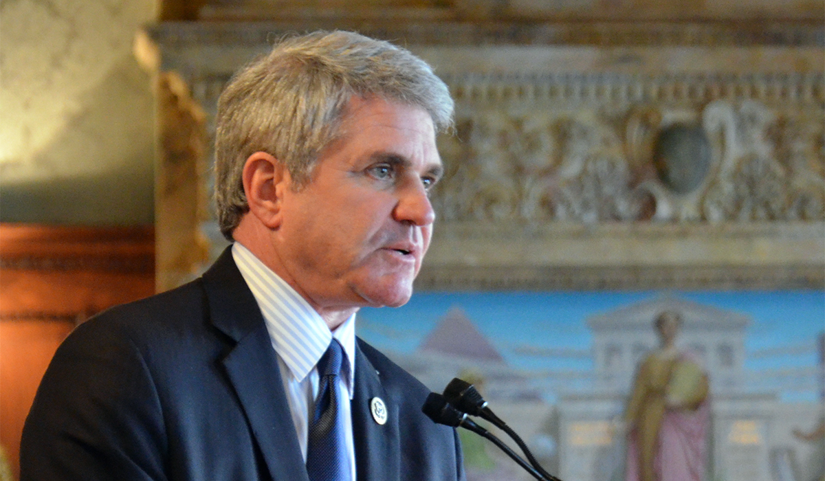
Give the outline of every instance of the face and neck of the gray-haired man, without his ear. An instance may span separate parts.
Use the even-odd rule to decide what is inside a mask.
[[[399,306],[430,244],[435,130],[415,106],[354,97],[309,184],[286,189],[275,231],[285,280],[316,309]]]

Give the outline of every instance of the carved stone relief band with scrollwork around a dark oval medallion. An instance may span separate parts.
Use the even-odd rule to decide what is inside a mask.
[[[813,85],[597,80],[457,87],[456,135],[441,139],[453,167],[434,197],[441,219],[825,219]]]

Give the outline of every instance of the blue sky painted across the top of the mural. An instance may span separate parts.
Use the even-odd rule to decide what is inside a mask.
[[[653,291],[418,293],[402,308],[361,309],[358,331],[376,347],[410,353],[450,308],[458,307],[511,365],[526,370],[590,370],[592,361],[587,350],[592,337],[585,319],[662,294]],[[823,291],[668,294],[751,318],[745,339],[747,370],[812,366],[818,362],[815,340],[825,331]],[[525,356],[520,354],[522,346],[565,350],[567,355]]]

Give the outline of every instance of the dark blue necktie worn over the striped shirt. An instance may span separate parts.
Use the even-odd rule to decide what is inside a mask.
[[[336,339],[318,361],[318,398],[309,420],[307,473],[310,481],[349,479],[344,421],[338,403],[344,400],[338,387],[343,351]]]

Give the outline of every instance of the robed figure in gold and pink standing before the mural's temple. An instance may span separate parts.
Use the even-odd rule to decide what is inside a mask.
[[[661,347],[639,365],[625,411],[625,481],[701,481],[708,376],[695,355],[676,348],[680,314],[665,311],[654,324]]]

